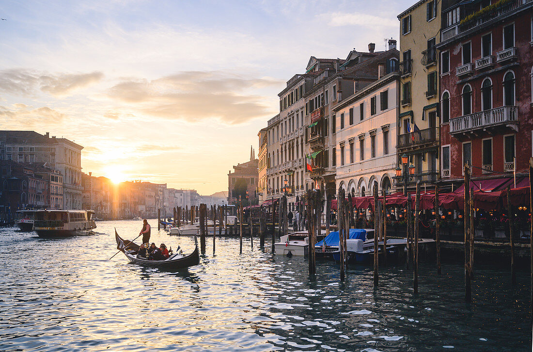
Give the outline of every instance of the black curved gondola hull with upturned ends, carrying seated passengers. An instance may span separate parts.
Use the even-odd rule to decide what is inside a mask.
[[[117,249],[122,251],[124,255],[130,259],[131,263],[147,266],[151,268],[162,268],[162,269],[182,269],[188,268],[190,266],[195,266],[200,264],[200,255],[198,254],[198,241],[195,236],[195,250],[189,255],[181,255],[175,253],[171,257],[165,260],[146,260],[137,258],[137,251],[139,250],[139,245],[120,238],[115,230],[115,239],[117,240]]]

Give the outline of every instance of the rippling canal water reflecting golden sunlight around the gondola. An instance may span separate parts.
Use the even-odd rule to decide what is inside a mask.
[[[151,220],[152,229],[156,225]],[[505,266],[475,267],[464,304],[461,263],[421,263],[419,294],[403,265],[352,266],[344,283],[319,261],[272,257],[259,240],[212,239],[199,266],[170,273],[128,264],[114,227],[133,239],[142,223],[99,222],[96,234],[40,239],[0,228],[1,351],[531,351],[529,274],[511,289]],[[156,227],[157,228],[157,227]],[[193,240],[152,230],[185,252]],[[270,242],[269,242],[270,243]]]

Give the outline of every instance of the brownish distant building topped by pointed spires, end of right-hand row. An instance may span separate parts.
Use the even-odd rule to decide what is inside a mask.
[[[259,178],[259,159],[255,159],[253,148],[250,149],[250,161],[233,166],[228,172],[228,204],[238,204],[239,195],[244,204],[257,204],[257,179]],[[246,200],[248,192],[248,200]]]

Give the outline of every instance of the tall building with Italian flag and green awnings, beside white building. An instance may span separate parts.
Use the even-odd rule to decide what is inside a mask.
[[[354,113],[356,109],[337,114],[333,107],[379,79],[379,69],[382,70],[381,77],[397,70],[396,41],[391,39],[387,44],[389,50],[376,52],[375,44],[370,43],[368,52],[352,50],[345,60],[314,57],[309,60],[306,69],[314,73],[314,77],[312,86],[304,94],[304,150],[311,163],[310,170],[305,173],[306,189],[320,188],[327,195],[336,194],[336,168],[341,161],[337,133],[357,124],[360,119]],[[370,104],[364,109],[370,116]]]

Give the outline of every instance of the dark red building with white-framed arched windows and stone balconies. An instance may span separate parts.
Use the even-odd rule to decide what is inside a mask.
[[[448,2],[442,14],[441,177],[527,175],[533,144],[533,1]],[[518,144],[518,145],[517,145]]]

